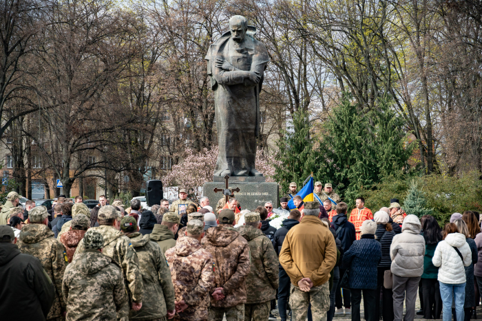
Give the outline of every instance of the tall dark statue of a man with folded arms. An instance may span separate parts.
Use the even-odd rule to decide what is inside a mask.
[[[207,73],[214,91],[219,156],[215,176],[262,176],[255,169],[260,135],[260,91],[269,62],[266,47],[247,34],[244,16],[229,19],[226,32],[209,47]]]

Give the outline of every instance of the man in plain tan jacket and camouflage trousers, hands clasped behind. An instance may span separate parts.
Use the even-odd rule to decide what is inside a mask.
[[[295,321],[306,319],[310,303],[313,320],[326,320],[330,309],[328,280],[337,248],[318,215],[318,202],[304,203],[304,217],[286,234],[280,252],[280,263],[291,279],[289,303]]]

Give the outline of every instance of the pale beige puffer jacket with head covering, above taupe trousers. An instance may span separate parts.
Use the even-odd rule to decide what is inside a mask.
[[[407,215],[401,225],[401,234],[393,237],[390,245],[392,274],[402,278],[417,278],[423,274],[425,239],[420,235],[420,220]]]

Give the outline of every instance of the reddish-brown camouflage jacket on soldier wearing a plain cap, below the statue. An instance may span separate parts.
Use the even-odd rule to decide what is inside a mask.
[[[240,234],[229,225],[221,224],[208,228],[202,239],[205,248],[214,260],[215,288],[222,287],[225,296],[216,301],[211,296],[213,307],[235,307],[246,303],[246,280],[251,263],[249,245]]]

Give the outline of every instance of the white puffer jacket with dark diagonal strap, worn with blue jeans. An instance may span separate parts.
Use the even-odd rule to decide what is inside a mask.
[[[457,247],[463,256],[463,262],[455,251]],[[472,252],[465,241],[465,235],[461,233],[450,233],[446,239],[441,241],[435,249],[432,263],[439,268],[437,280],[446,284],[465,283],[465,269],[472,263]]]

